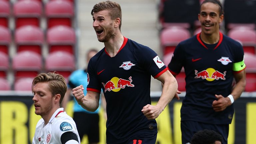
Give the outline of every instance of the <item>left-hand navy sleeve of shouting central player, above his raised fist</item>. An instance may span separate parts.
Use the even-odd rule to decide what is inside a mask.
[[[100,93],[101,92],[101,83],[97,78],[97,72],[94,68],[95,64],[92,60],[92,58],[90,59],[89,63],[88,63],[88,68],[87,68],[87,91],[95,91]]]

